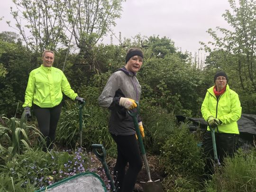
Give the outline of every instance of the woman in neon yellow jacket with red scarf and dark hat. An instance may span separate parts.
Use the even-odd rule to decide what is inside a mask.
[[[216,147],[219,162],[225,155],[233,156],[239,137],[237,121],[241,117],[241,104],[238,94],[228,85],[228,76],[219,71],[214,76],[215,85],[210,87],[201,106],[202,117],[208,121],[209,126],[216,127]],[[207,157],[206,173],[212,174],[213,148],[210,128],[203,138],[204,154]],[[210,158],[209,158],[210,157]]]

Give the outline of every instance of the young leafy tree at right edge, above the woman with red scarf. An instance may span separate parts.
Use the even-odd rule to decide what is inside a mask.
[[[232,10],[226,10],[223,17],[232,29],[217,27],[222,37],[209,29],[214,39],[210,44],[222,52],[223,67],[236,71],[240,89],[256,92],[256,0],[239,0],[239,4],[229,0],[229,4]]]

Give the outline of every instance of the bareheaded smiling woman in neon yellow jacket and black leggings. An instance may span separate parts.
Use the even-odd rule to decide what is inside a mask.
[[[72,100],[83,102],[83,99],[71,89],[64,73],[52,66],[54,52],[45,50],[42,57],[43,64],[29,74],[22,107],[25,108],[27,117],[30,117],[30,107],[34,105],[39,129],[46,137],[46,147],[51,149],[61,113],[62,92]],[[43,150],[46,151],[46,148]]]

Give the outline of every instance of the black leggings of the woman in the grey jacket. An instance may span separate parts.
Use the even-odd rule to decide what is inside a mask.
[[[137,175],[142,168],[142,159],[135,135],[115,136],[118,157],[114,168],[115,185],[118,192],[132,192],[137,180]],[[125,167],[129,168],[125,173]]]

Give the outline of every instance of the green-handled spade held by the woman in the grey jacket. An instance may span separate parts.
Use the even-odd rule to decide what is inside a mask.
[[[148,165],[147,158],[146,158],[146,151],[145,151],[143,141],[142,141],[142,137],[141,137],[141,134],[140,134],[140,130],[139,130],[139,127],[138,127],[137,116],[139,114],[139,103],[136,102],[136,104],[137,104],[137,108],[135,108],[133,110],[135,112],[131,112],[129,110],[127,110],[127,112],[132,117],[132,120],[133,120],[133,123],[134,123],[134,126],[135,126],[135,130],[136,130],[136,134],[137,134],[138,142],[139,142],[139,147],[140,147],[140,152],[142,154],[142,158],[143,158],[145,169],[146,169],[146,174],[147,174],[147,177],[148,177],[147,182],[140,182],[140,183],[142,185],[142,188],[143,188],[144,192],[164,192],[160,180],[158,179],[156,181],[152,181],[152,179],[151,179],[149,165]]]

